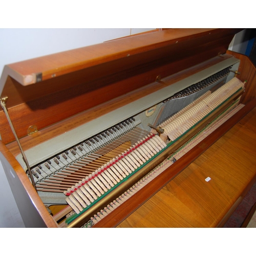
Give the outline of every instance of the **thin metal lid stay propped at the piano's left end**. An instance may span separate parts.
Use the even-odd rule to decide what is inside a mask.
[[[8,100],[8,97],[0,98],[0,104],[1,104],[1,106],[2,106],[2,108],[3,108],[3,110],[4,110],[4,112],[5,112],[5,115],[6,115],[6,117],[7,117],[7,120],[8,120],[8,122],[9,122],[9,125],[10,125],[11,130],[12,130],[12,133],[13,133],[13,135],[14,135],[14,137],[15,137],[17,143],[18,143],[19,150],[20,150],[20,152],[22,153],[23,160],[24,160],[24,162],[26,163],[26,166],[27,166],[27,168],[28,168],[28,172],[29,172],[29,175],[30,175],[31,182],[32,182],[32,184],[33,184],[33,186],[34,186],[34,188],[35,188],[35,190],[36,190],[34,178],[33,178],[33,175],[32,175],[32,173],[31,173],[31,169],[30,169],[30,166],[29,166],[29,163],[28,163],[28,159],[27,159],[27,157],[26,157],[26,155],[25,155],[25,153],[24,153],[24,151],[23,151],[22,145],[21,145],[20,142],[19,142],[18,136],[17,136],[17,134],[16,134],[16,132],[15,132],[15,129],[14,129],[13,124],[12,124],[12,121],[11,121],[11,118],[10,118],[10,116],[9,116],[9,114],[8,114],[8,110],[7,110],[7,108],[6,108],[6,101],[7,101],[7,100]],[[37,190],[36,190],[36,191],[37,191]]]

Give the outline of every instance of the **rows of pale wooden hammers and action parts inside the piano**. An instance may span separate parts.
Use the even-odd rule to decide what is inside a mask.
[[[74,210],[72,216],[67,220],[67,223],[69,224],[77,217],[83,215],[82,218],[90,219],[84,226],[92,226],[113,209],[118,207],[123,201],[134,195],[134,193],[146,185],[147,182],[150,182],[155,177],[155,174],[160,174],[163,169],[169,167],[176,161],[181,154],[181,150],[177,150],[174,154],[169,156],[160,167],[155,168],[153,172],[146,174],[142,179],[136,181],[137,183],[130,189],[125,189],[125,191],[120,190],[121,193],[119,197],[102,207],[102,204],[104,204],[102,199],[104,197],[110,196],[113,190],[115,191],[117,187],[120,187],[120,184],[132,177],[134,173],[139,172],[142,166],[150,162],[151,159],[163,151],[167,144],[175,143],[191,130],[193,126],[197,125],[210,113],[217,110],[232,95],[240,92],[243,87],[244,83],[237,78],[233,78],[221,88],[213,90],[212,93],[210,91],[206,92],[205,95],[200,96],[196,102],[193,102],[192,104],[190,103],[189,108],[185,108],[185,110],[176,113],[175,118],[173,116],[164,122],[165,126],[163,126],[163,129],[164,134],[167,136],[166,141],[160,139],[156,133],[147,134],[142,140],[132,143],[132,146],[128,147],[122,154],[113,156],[110,161],[100,166],[93,173],[76,183],[71,188],[67,189],[65,191],[65,195],[68,196],[66,201]],[[238,100],[236,100],[236,103],[237,102]],[[231,105],[233,108],[234,104],[235,103]],[[183,154],[199,143],[205,136],[207,136],[207,134],[216,129],[218,125],[221,125],[225,120],[220,120],[220,118],[224,116],[224,113],[229,113],[227,118],[236,113],[234,111],[230,112],[230,109],[232,109],[231,106],[219,115],[218,118],[215,118],[214,121],[211,121],[206,125],[203,129],[203,133],[200,132],[194,136],[193,139],[190,140],[189,146],[187,143],[184,144],[186,145],[186,150],[184,151],[184,146],[182,146]],[[115,195],[116,194],[114,194],[114,197]],[[97,207],[101,206],[101,210],[97,211],[97,214],[95,213],[93,216],[87,215],[87,211],[97,204],[99,205]]]

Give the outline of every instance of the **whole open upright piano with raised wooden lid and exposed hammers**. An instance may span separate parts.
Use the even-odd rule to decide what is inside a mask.
[[[6,65],[0,160],[24,226],[117,226],[249,113],[255,67],[227,50],[239,31],[164,29]]]

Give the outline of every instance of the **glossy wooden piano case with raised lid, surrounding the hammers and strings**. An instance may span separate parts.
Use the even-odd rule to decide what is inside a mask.
[[[256,105],[255,67],[246,56],[227,50],[234,34],[240,30],[164,29],[6,65],[0,80],[2,172],[5,170],[25,226],[117,226],[252,110]],[[67,196],[58,191],[48,199],[47,191],[39,191],[38,187],[38,191],[35,190],[29,177],[31,175],[35,186],[38,186],[38,176],[42,176],[38,166],[46,168],[49,163],[52,168],[66,153],[77,159],[77,155],[83,154],[85,142],[94,144],[103,135],[112,136],[108,131],[126,129],[125,124],[129,126],[133,123],[152,136],[162,137],[159,124],[179,112],[180,106],[183,108],[191,103],[186,103],[184,95],[190,90],[197,90],[195,88],[202,81],[226,71],[228,73],[222,83],[236,77],[244,84],[242,90],[233,95],[229,103],[224,103],[220,110],[204,118],[203,123],[194,125],[185,135],[185,140],[180,140],[171,150],[163,150],[160,155],[154,156],[154,161],[144,164],[146,172],[138,179],[143,179],[164,161],[172,162],[172,166],[163,170],[156,179],[109,214],[104,210],[106,206],[113,205],[117,193],[125,194],[126,190],[116,192],[108,200],[103,197],[104,203],[95,207],[86,218],[86,210],[78,214],[70,206],[53,217],[49,214],[48,206],[66,203],[63,198]],[[175,97],[179,98],[179,108],[172,110],[172,114],[164,114],[167,112],[167,107],[164,107]],[[233,102],[244,106],[204,139],[203,146],[188,151],[178,161],[172,157],[180,146],[230,108]],[[15,140],[6,113],[24,155],[20,153],[19,142]],[[151,127],[147,126],[148,123],[152,124]],[[27,158],[29,167],[24,158]],[[14,179],[18,185],[15,185]],[[129,180],[125,189],[138,182]],[[70,188],[66,195],[72,194],[72,189],[77,188]],[[57,222],[70,211],[71,217],[59,225]],[[104,218],[94,223],[97,213],[102,211]]]

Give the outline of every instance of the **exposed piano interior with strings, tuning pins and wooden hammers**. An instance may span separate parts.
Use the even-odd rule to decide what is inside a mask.
[[[144,173],[143,166],[243,88],[237,78],[225,83],[230,68],[159,103],[153,120],[164,130],[161,138],[143,123],[142,113],[32,167],[43,202],[68,204],[71,207],[68,226],[76,218],[85,220],[84,227],[94,225],[172,161],[168,157],[161,167],[154,166],[150,173]],[[173,159],[178,157],[175,154]],[[131,178],[134,179],[132,186],[128,182]]]

